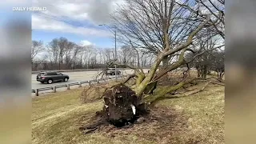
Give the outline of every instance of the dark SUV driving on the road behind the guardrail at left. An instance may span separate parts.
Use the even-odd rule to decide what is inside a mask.
[[[52,83],[52,82],[67,82],[70,77],[66,74],[58,73],[58,72],[40,72],[37,75],[37,81],[44,83]]]

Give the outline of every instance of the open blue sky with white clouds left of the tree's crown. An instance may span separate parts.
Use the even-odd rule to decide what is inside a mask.
[[[99,24],[110,24],[110,14],[123,0],[33,0],[46,11],[32,14],[32,38],[47,43],[65,37],[72,42],[113,47],[113,34]]]

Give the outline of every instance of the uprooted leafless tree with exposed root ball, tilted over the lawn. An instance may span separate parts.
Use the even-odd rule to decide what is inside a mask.
[[[124,5],[118,7],[112,17],[118,40],[134,50],[155,54],[156,59],[147,74],[139,66],[110,62],[110,66],[126,66],[133,69],[134,74],[126,78],[125,82],[134,78],[135,83],[133,89],[118,84],[105,90],[102,95],[105,106],[98,113],[104,122],[115,126],[132,122],[135,116],[138,118],[138,115],[146,112],[148,104],[194,81],[194,78],[183,78],[173,86],[158,87],[157,83],[163,76],[193,62],[207,51],[222,47],[216,46],[206,50],[196,46],[200,42],[198,37],[206,31],[214,30],[214,26],[223,17],[222,13],[217,12],[219,18],[212,18],[211,14],[202,14],[198,10],[198,15],[188,8],[189,5],[197,6],[190,1],[180,4],[174,0],[126,0]],[[193,56],[186,61],[185,55],[188,51],[192,52]],[[160,70],[157,72],[158,68]],[[157,90],[153,94],[155,89]],[[92,127],[95,128],[87,128]]]

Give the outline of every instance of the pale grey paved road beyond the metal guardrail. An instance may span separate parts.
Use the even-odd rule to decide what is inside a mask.
[[[67,74],[70,76],[70,80],[68,82],[56,82],[52,84],[42,84],[41,82],[37,82],[36,77],[37,74],[32,74],[32,90],[39,89],[48,86],[57,86],[61,84],[73,83],[73,82],[81,82],[81,81],[89,81],[95,79],[96,75],[102,72],[101,70],[95,71],[76,71],[76,72],[62,72],[62,74]],[[122,74],[133,74],[134,70],[121,70]],[[146,72],[146,69],[145,69]]]

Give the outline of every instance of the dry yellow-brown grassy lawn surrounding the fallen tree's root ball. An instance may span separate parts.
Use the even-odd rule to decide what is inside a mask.
[[[81,93],[82,88],[32,99],[33,143],[224,143],[224,86],[210,84],[198,94],[161,100],[154,117],[142,124],[106,126],[86,135],[78,127],[102,109],[102,101],[82,104]]]

